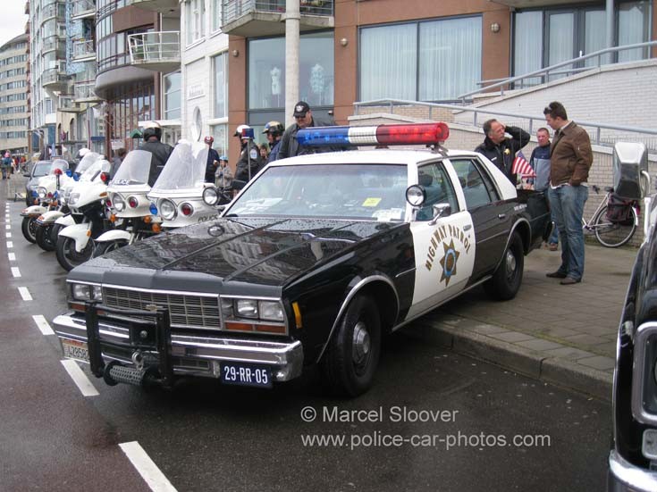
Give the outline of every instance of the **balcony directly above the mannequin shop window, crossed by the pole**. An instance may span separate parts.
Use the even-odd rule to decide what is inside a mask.
[[[333,28],[334,0],[300,0],[299,29]],[[250,38],[285,34],[285,0],[223,0],[222,31]]]

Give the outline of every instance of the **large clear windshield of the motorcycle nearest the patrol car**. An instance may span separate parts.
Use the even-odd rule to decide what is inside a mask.
[[[203,188],[208,147],[202,142],[181,140],[164,165],[153,189]]]

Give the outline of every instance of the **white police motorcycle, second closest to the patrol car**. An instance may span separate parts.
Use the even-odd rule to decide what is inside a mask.
[[[147,194],[148,171],[153,154],[147,150],[129,152],[107,187],[106,203],[111,208],[110,222],[121,220],[121,226],[106,230],[95,241],[94,256],[100,256],[121,246],[160,231],[153,223]]]

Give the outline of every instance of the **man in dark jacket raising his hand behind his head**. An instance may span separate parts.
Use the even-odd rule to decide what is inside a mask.
[[[516,185],[515,176],[511,173],[516,153],[529,143],[529,134],[518,127],[507,127],[497,120],[484,122],[484,143],[477,146],[475,152],[484,154]],[[508,133],[511,138],[506,138]]]

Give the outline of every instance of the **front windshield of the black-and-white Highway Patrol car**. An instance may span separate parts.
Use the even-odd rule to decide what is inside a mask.
[[[403,221],[408,175],[399,164],[270,167],[226,216]]]

